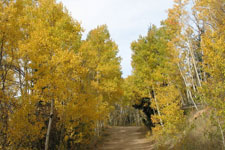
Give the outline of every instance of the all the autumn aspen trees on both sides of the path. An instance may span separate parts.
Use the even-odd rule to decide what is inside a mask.
[[[156,141],[181,141],[192,108],[225,148],[224,0],[174,0],[131,43],[126,79],[107,26],[82,32],[55,0],[0,1],[0,149],[83,149],[107,124],[141,125],[143,98]]]

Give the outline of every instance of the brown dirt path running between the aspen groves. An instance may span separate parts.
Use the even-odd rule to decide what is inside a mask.
[[[152,150],[143,127],[110,127],[96,150]]]

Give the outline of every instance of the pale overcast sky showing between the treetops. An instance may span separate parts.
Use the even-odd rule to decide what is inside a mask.
[[[131,74],[132,41],[146,35],[150,24],[160,25],[167,17],[173,0],[58,0],[72,17],[81,22],[87,33],[98,25],[107,24],[111,38],[119,46],[123,77]]]

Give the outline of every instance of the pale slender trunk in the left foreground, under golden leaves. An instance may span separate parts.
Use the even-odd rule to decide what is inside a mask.
[[[45,140],[45,150],[48,150],[48,146],[49,146],[49,136],[50,136],[51,127],[52,127],[54,102],[55,102],[54,99],[52,99],[49,122],[48,122],[48,129],[47,129],[46,140]]]

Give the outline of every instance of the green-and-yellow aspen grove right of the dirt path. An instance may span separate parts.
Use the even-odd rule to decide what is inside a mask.
[[[161,27],[150,26],[147,36],[131,44],[131,82],[157,110],[156,137],[180,135],[188,124],[183,110],[193,107],[208,111],[208,132],[225,148],[224,46],[224,0],[174,0]]]

